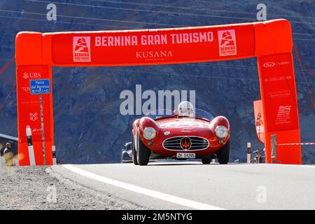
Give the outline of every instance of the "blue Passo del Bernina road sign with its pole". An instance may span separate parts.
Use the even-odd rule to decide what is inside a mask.
[[[41,105],[41,141],[43,144],[43,165],[46,165],[45,131],[43,122],[43,94],[50,94],[50,80],[49,79],[29,80],[29,92],[31,94],[39,94],[39,102]]]

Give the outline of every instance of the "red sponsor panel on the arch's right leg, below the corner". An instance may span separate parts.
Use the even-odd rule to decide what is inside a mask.
[[[268,132],[298,128],[291,61],[290,54],[268,55],[260,59]]]

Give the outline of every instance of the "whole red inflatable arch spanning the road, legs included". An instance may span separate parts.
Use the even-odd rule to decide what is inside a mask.
[[[293,40],[287,20],[178,29],[20,32],[15,44],[20,165],[29,165],[27,125],[33,133],[36,165],[43,165],[39,96],[29,93],[29,80],[49,78],[52,85],[52,66],[134,66],[257,57],[267,162],[271,162],[272,134],[278,143],[300,142]],[[46,164],[52,165],[52,93],[43,94],[43,118]],[[278,146],[277,159],[283,164],[301,164],[300,146]]]

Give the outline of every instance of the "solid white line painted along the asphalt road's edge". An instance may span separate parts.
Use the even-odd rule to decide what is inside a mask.
[[[113,179],[109,179],[105,176],[99,176],[97,174],[93,174],[91,172],[87,172],[83,169],[80,169],[78,167],[73,167],[73,165],[63,165],[64,168],[66,169],[69,169],[71,172],[75,172],[76,174],[80,174],[81,176],[85,176],[87,178],[90,178],[90,179],[94,179],[96,181],[100,181],[102,183],[107,183],[107,184],[110,184],[112,186],[116,186],[118,188],[123,188],[125,190],[131,190],[135,193],[139,193],[139,194],[142,194],[142,195],[147,195],[147,196],[150,196],[150,197],[155,197],[159,200],[164,200],[164,201],[167,201],[167,202],[172,202],[174,204],[180,204],[184,207],[190,207],[192,209],[200,209],[200,210],[225,210],[221,207],[215,207],[215,206],[212,206],[210,204],[204,204],[204,203],[200,203],[200,202],[195,202],[195,201],[192,201],[192,200],[187,200],[187,199],[184,199],[184,198],[181,198],[181,197],[176,197],[176,196],[173,196],[173,195],[168,195],[168,194],[165,194],[165,193],[160,193],[158,191],[155,191],[155,190],[149,190],[149,189],[146,189],[146,188],[141,188],[139,186],[134,186],[130,183],[124,183],[124,182],[121,182],[121,181],[116,181],[116,180],[113,180]]]

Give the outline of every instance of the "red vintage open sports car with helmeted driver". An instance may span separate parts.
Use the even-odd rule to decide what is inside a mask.
[[[187,109],[190,112],[187,113]],[[201,158],[203,164],[209,164],[214,154],[220,164],[229,162],[230,124],[227,118],[214,118],[206,111],[194,110],[192,105],[185,109],[179,106],[179,110],[169,116],[155,114],[132,124],[134,165],[148,165],[150,159],[160,158]]]

